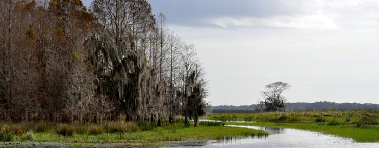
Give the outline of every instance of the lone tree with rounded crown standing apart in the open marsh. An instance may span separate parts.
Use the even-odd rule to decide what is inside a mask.
[[[274,82],[266,85],[266,91],[262,91],[261,95],[265,98],[264,101],[260,101],[261,111],[285,111],[286,99],[281,95],[284,90],[291,87],[288,83]]]

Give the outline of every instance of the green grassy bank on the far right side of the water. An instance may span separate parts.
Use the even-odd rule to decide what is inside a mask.
[[[352,138],[356,142],[379,142],[379,114],[368,111],[291,111],[258,114],[213,114],[212,120],[255,121],[226,124],[293,128]]]

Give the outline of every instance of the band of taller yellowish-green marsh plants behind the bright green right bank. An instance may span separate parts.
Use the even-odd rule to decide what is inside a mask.
[[[369,125],[379,125],[379,113],[368,110],[323,110],[323,111],[286,111],[264,112],[254,114],[210,114],[209,120],[219,121],[255,121],[255,122],[329,122],[335,120],[340,123],[356,124],[361,122]]]

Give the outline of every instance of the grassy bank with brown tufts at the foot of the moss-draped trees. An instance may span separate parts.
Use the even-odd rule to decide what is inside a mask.
[[[11,142],[53,142],[64,144],[64,146],[97,146],[98,144],[164,146],[169,145],[170,141],[223,140],[267,135],[266,132],[260,130],[222,125],[203,123],[198,127],[192,127],[183,123],[175,123],[155,127],[148,124],[125,122],[108,122],[106,124],[3,123],[0,133],[11,133],[12,137],[10,140],[8,139]],[[5,141],[5,139],[3,138],[1,141]]]

